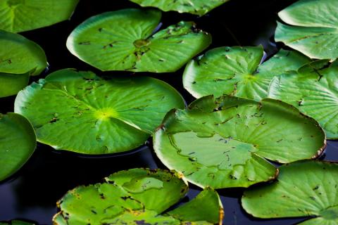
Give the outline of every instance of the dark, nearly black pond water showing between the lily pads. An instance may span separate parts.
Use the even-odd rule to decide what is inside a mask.
[[[293,2],[291,0],[232,0],[202,18],[194,15],[163,13],[163,27],[180,20],[193,20],[199,28],[213,35],[213,44],[209,49],[218,46],[262,44],[269,57],[277,51],[276,44],[271,41],[277,12]],[[71,56],[65,47],[65,41],[68,34],[89,16],[128,7],[138,6],[127,0],[81,0],[71,20],[32,32],[24,32],[23,35],[36,41],[46,51],[50,64],[49,72],[62,68],[77,68],[93,70],[102,75],[102,72]],[[189,103],[194,98],[182,87],[183,70],[161,75],[149,73],[142,73],[142,75],[157,77],[175,86]],[[127,74],[112,72],[104,75],[121,73]],[[34,77],[34,80],[44,76]],[[14,99],[15,97],[0,99],[0,113],[13,111]],[[338,143],[328,141],[323,159],[338,160],[337,151]],[[152,153],[151,144],[123,156],[104,158],[85,158],[73,153],[57,153],[49,146],[38,144],[35,154],[20,172],[0,183],[0,221],[27,219],[39,224],[51,224],[51,218],[56,213],[56,201],[69,189],[80,184],[100,182],[104,176],[113,172],[134,167],[164,168]],[[242,210],[239,204],[243,190],[231,188],[219,191],[225,209],[225,224],[282,225],[296,224],[303,220],[253,219]],[[194,197],[197,193],[199,188],[192,186],[188,197],[184,200]]]

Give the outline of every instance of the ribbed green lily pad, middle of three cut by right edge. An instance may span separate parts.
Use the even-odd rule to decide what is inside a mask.
[[[319,60],[275,77],[270,84],[269,97],[277,98],[317,120],[328,139],[338,139],[338,63],[327,67]]]

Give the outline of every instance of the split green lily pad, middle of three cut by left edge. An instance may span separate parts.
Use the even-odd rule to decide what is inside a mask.
[[[0,30],[0,98],[17,94],[47,66],[44,50],[20,34]]]

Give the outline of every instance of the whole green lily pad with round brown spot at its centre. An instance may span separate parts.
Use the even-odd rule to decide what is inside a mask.
[[[160,21],[161,11],[154,9],[102,13],[76,27],[67,47],[104,71],[175,72],[211,44],[211,35],[190,22],[154,34]]]

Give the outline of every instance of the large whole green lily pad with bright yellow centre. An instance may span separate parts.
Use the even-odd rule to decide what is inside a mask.
[[[184,101],[158,79],[104,80],[75,70],[54,72],[15,99],[15,112],[32,122],[39,142],[84,154],[141,146],[172,108],[184,108]]]

